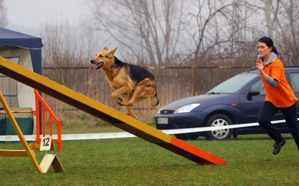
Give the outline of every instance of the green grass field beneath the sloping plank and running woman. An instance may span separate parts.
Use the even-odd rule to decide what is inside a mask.
[[[272,155],[266,135],[238,140],[187,141],[226,161],[226,165],[197,165],[139,138],[63,141],[57,154],[65,171],[36,174],[28,158],[0,157],[0,186],[93,185],[299,185],[299,152],[290,135],[282,152]],[[0,149],[22,149],[0,143]],[[40,163],[45,152],[37,153]],[[47,152],[51,154],[53,152]]]

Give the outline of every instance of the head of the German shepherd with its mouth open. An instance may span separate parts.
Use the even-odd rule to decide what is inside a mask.
[[[104,65],[111,65],[114,60],[114,53],[117,48],[114,48],[112,50],[108,50],[107,47],[105,47],[102,51],[99,51],[90,62],[92,64],[96,64],[94,66],[94,69],[102,68]]]

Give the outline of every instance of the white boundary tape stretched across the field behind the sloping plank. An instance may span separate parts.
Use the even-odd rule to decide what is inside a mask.
[[[299,118],[298,118],[299,120]],[[284,123],[286,120],[272,121],[271,123]],[[199,128],[187,128],[187,129],[171,129],[162,130],[166,134],[183,134],[183,133],[194,133],[203,131],[215,131],[242,127],[258,126],[258,123],[247,123],[238,125],[227,125],[227,126],[216,126],[216,127],[199,127]],[[35,135],[24,135],[26,141],[35,141]],[[42,137],[42,136],[41,136]],[[57,135],[52,136],[53,139],[57,139]],[[92,133],[92,134],[64,134],[61,135],[61,140],[95,140],[95,139],[112,139],[112,138],[133,138],[135,135],[128,132],[117,132],[117,133]],[[18,136],[0,136],[0,141],[19,141]]]

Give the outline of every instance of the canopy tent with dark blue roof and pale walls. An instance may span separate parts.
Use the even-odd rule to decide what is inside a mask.
[[[43,46],[41,38],[27,35],[24,33],[8,30],[0,27],[0,56],[5,57],[15,63],[28,68],[38,74],[41,74],[41,47]],[[0,74],[0,90],[9,107],[13,110],[35,110],[35,97],[33,88],[15,81],[3,74]],[[0,104],[0,107],[2,105]],[[30,113],[32,116],[32,113]],[[17,117],[27,118],[29,113],[18,114]],[[30,118],[32,118],[30,116]],[[32,118],[33,119],[33,118]],[[28,122],[24,123],[23,129],[27,129],[28,134],[32,134],[32,119],[31,127],[28,127]],[[0,118],[2,121],[3,119]],[[4,119],[5,120],[5,119]],[[19,119],[21,120],[21,119]],[[30,121],[29,120],[29,121]],[[5,120],[6,122],[6,120]],[[7,123],[7,122],[6,122]],[[0,133],[9,134],[7,124],[0,123]],[[35,123],[35,121],[34,121]],[[3,127],[4,126],[4,127]],[[6,129],[3,129],[5,128]],[[33,125],[35,126],[35,124]],[[20,126],[22,129],[22,126]],[[22,129],[22,131],[23,131]],[[11,128],[11,130],[13,130]],[[33,130],[34,131],[34,130]],[[13,131],[14,132],[14,131]],[[24,133],[24,131],[23,131]],[[1,135],[1,134],[0,134]]]

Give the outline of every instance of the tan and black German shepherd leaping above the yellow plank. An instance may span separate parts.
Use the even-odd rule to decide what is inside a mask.
[[[115,89],[111,97],[121,106],[127,107],[127,115],[137,119],[132,108],[137,101],[149,99],[149,106],[159,104],[156,91],[156,80],[145,68],[122,62],[114,53],[117,48],[99,51],[90,62],[94,69],[102,68],[110,86]]]

